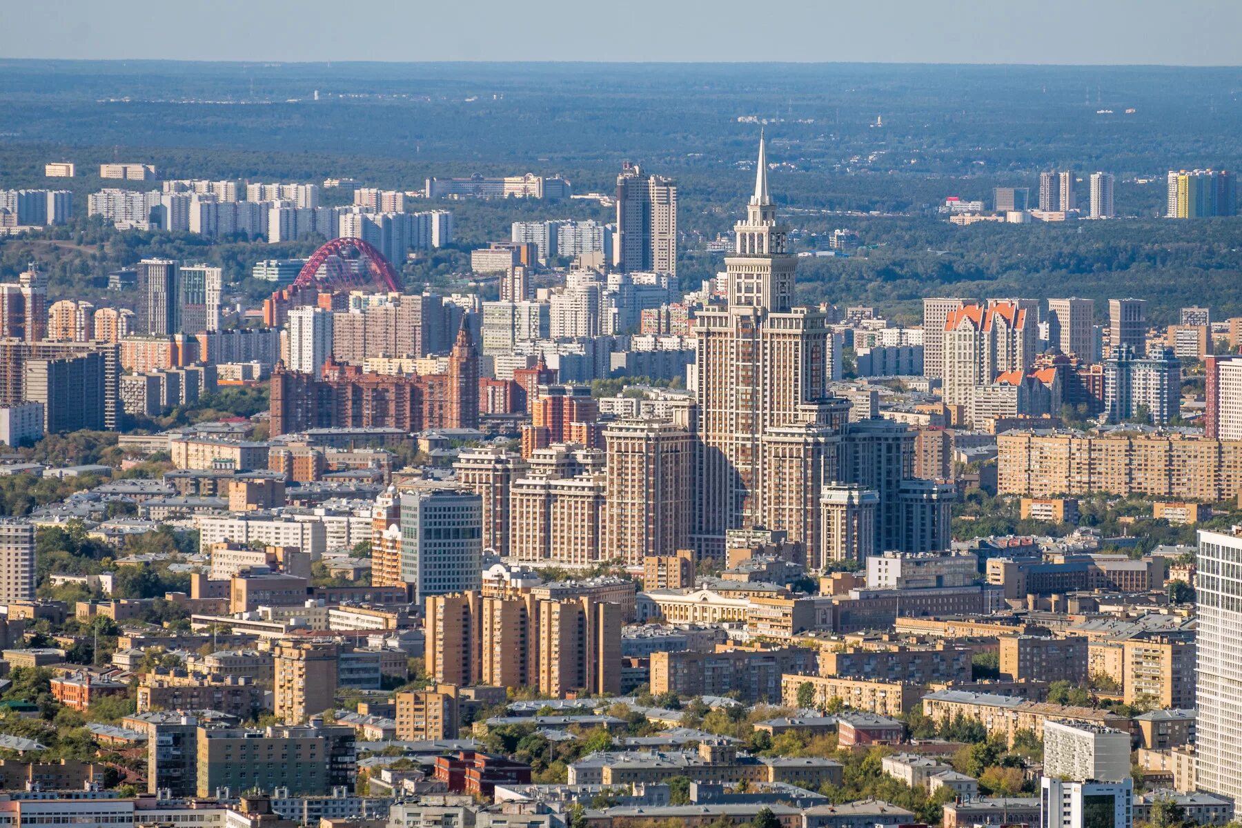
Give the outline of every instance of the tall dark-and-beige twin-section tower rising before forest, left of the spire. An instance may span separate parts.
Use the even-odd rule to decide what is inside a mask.
[[[766,170],[764,170],[766,175]],[[620,271],[677,274],[677,184],[626,164],[617,176],[612,264]]]

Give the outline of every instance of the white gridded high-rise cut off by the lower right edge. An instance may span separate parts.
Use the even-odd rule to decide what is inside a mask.
[[[1200,530],[1195,559],[1199,790],[1242,799],[1242,535]]]

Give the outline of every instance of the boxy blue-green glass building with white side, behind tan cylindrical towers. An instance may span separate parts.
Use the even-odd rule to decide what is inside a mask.
[[[419,483],[401,492],[400,575],[419,603],[482,582],[483,502],[473,490]]]

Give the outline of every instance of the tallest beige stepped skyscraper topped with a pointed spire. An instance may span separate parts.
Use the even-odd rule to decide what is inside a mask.
[[[734,233],[735,252],[724,261],[728,304],[694,319],[699,492],[693,541],[700,554],[723,555],[725,531],[764,524],[765,513],[780,511],[764,497],[768,432],[827,425],[809,422],[821,420],[809,403],[827,396],[830,330],[818,310],[794,307],[796,258],[771,201],[761,135],[755,191]],[[835,453],[827,454],[810,462],[835,466]]]

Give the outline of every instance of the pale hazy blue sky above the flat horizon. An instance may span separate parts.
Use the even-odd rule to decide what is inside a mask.
[[[1240,31],[1242,0],[0,0],[0,57],[1237,66]]]

